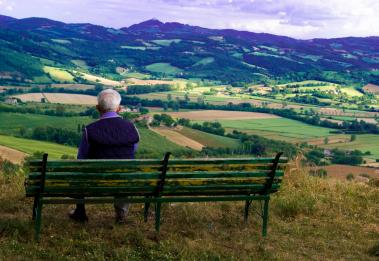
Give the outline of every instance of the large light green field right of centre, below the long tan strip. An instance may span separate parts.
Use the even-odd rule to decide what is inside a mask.
[[[239,130],[254,130],[276,132],[279,136],[284,135],[295,138],[312,138],[329,135],[330,129],[305,124],[286,118],[277,119],[253,119],[253,120],[221,120],[225,128]]]

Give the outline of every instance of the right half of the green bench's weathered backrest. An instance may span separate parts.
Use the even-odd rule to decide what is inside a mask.
[[[170,160],[162,195],[246,195],[280,187],[287,159]]]

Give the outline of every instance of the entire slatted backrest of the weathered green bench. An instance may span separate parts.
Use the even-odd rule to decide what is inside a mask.
[[[265,194],[279,189],[286,159],[54,160],[30,162],[27,196]]]

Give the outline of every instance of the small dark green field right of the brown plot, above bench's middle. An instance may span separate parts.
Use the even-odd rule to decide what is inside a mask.
[[[182,130],[178,131],[184,136],[195,140],[207,147],[213,148],[237,148],[240,143],[235,139],[231,139],[228,137],[222,137],[210,133],[206,133],[199,130],[194,130],[190,128],[184,127]]]

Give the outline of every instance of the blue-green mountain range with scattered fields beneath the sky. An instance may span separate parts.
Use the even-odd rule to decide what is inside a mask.
[[[114,29],[0,16],[0,48],[3,83],[56,80],[44,66],[112,79],[141,72],[233,85],[302,79],[379,82],[379,37],[298,40],[156,19]]]

